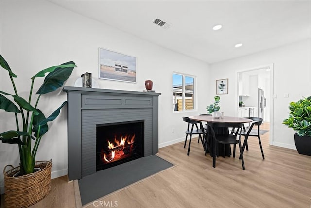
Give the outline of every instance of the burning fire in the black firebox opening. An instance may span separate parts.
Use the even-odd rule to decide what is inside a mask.
[[[96,125],[96,171],[144,156],[144,120]]]

